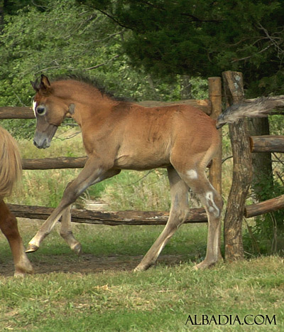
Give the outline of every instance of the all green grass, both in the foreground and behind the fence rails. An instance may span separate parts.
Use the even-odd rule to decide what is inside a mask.
[[[75,144],[58,139],[44,151],[26,141],[20,145],[25,158],[84,155],[78,136]],[[55,206],[75,176],[73,170],[23,173],[23,188],[9,203]],[[121,172],[91,188],[87,197],[103,199],[113,210],[168,210],[165,170],[147,174]],[[228,188],[229,174],[224,171]],[[20,220],[25,244],[40,223]],[[0,331],[283,331],[284,265],[280,257],[220,263],[195,271],[195,262],[206,252],[207,225],[182,225],[158,264],[134,274],[129,268],[104,267],[104,262],[116,257],[118,265],[120,261],[125,267],[133,264],[133,259],[145,255],[163,226],[75,225],[74,229],[84,255],[97,257],[101,269],[80,271],[82,257],[70,252],[53,231],[40,250],[29,256],[38,273],[14,279],[10,277],[11,252],[0,233]],[[168,263],[163,259],[166,255],[177,259]],[[6,266],[10,269],[4,274]],[[202,315],[238,315],[241,321],[246,315],[275,315],[277,326],[185,325],[189,315],[197,315],[199,322]]]

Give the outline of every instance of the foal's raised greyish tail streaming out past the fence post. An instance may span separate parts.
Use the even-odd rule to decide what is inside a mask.
[[[284,95],[259,97],[256,100],[246,100],[246,102],[231,105],[219,115],[216,127],[219,129],[224,124],[235,122],[242,117],[267,117],[271,109],[275,107],[284,107]]]

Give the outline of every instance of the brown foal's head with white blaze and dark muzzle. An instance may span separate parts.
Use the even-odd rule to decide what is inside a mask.
[[[39,84],[31,82],[31,85],[36,92],[33,112],[37,120],[33,144],[39,149],[45,149],[50,146],[50,141],[66,114],[74,111],[74,105],[68,105],[67,100],[56,95],[55,87],[45,75],[41,75]]]

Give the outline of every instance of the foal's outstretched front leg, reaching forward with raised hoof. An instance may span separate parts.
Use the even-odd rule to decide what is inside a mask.
[[[102,166],[94,158],[87,159],[87,162],[80,172],[79,176],[75,178],[70,185],[67,186],[63,193],[62,199],[57,208],[53,211],[50,217],[45,220],[45,223],[40,227],[40,230],[36,233],[33,239],[28,243],[26,252],[34,252],[40,247],[40,242],[48,236],[53,230],[53,227],[60,219],[63,210],[70,204],[74,203],[75,200],[93,183],[96,182],[97,178],[106,173],[107,169]]]

